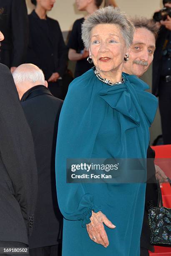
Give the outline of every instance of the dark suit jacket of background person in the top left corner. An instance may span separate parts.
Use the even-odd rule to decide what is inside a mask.
[[[25,63],[28,46],[28,15],[25,0],[0,0],[2,41],[0,62],[10,67]]]

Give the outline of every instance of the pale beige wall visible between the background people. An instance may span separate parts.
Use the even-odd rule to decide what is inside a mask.
[[[26,0],[28,6],[28,13],[30,13],[34,5],[30,0]],[[162,0],[116,0],[116,3],[121,10],[125,11],[128,15],[145,16],[152,18],[153,13],[162,8]],[[69,31],[73,26],[73,22],[85,15],[75,7],[75,0],[56,0],[53,9],[48,13],[48,16],[58,20],[61,30]],[[147,82],[151,87],[152,75],[151,68],[143,75],[142,79]],[[151,126],[151,143],[161,134],[161,121],[159,111]]]

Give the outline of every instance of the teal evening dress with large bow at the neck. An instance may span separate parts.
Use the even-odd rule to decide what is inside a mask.
[[[56,187],[64,217],[63,256],[139,256],[145,183],[66,183],[67,158],[146,158],[149,126],[157,99],[148,85],[123,73],[110,86],[90,69],[73,80],[60,113],[56,146]],[[105,230],[109,246],[87,233],[92,210],[116,228]]]

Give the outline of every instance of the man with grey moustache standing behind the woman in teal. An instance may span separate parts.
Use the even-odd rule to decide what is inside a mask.
[[[153,54],[156,49],[156,38],[158,27],[155,23],[147,18],[135,18],[133,20],[136,28],[133,36],[133,44],[131,46],[128,61],[123,65],[123,72],[141,77],[150,67],[153,61]],[[148,250],[154,251],[154,247],[150,242],[150,227],[148,223],[148,209],[152,204],[157,206],[158,188],[156,178],[159,182],[167,182],[167,177],[159,166],[154,166],[153,161],[155,153],[150,146],[147,150],[147,184],[146,184],[146,200],[143,218],[143,227],[141,232],[140,255],[149,256]],[[156,175],[155,175],[156,174]]]

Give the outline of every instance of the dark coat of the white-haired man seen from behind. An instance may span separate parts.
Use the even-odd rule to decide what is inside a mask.
[[[38,166],[38,200],[29,248],[56,245],[60,238],[63,217],[56,196],[55,147],[62,103],[43,85],[31,88],[21,99]]]

